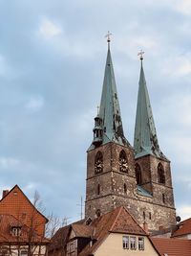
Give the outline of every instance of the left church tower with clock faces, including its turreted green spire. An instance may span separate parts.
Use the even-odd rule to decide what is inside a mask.
[[[126,205],[136,190],[134,151],[126,140],[120,115],[117,85],[108,52],[94,140],[88,150],[85,216],[96,217]]]

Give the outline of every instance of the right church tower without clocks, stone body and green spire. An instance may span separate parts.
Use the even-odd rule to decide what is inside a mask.
[[[143,71],[143,52],[140,52],[138,105],[134,137],[135,173],[143,219],[156,229],[176,223],[170,161],[159,149],[153,113]],[[151,202],[147,204],[146,201]],[[154,224],[152,224],[152,222]]]

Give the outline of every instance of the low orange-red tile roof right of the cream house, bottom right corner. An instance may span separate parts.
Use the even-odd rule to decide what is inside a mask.
[[[190,256],[191,240],[174,238],[151,238],[161,256]]]

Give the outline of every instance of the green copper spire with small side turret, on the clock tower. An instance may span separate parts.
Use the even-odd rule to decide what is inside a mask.
[[[129,145],[124,137],[120,108],[117,96],[114,68],[110,52],[110,33],[108,33],[108,53],[105,65],[105,75],[102,87],[99,112],[96,116],[94,128],[94,146],[116,142],[120,145]],[[100,127],[102,130],[100,130]],[[91,147],[92,148],[92,147]]]

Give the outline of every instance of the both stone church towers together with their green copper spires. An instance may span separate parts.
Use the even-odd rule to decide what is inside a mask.
[[[134,147],[124,136],[108,36],[101,102],[88,149],[85,216],[125,206],[139,224],[159,230],[176,223],[170,161],[160,151],[142,54]]]

